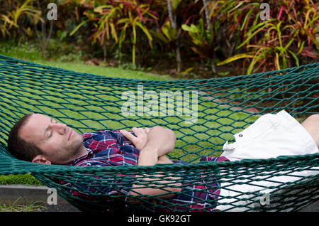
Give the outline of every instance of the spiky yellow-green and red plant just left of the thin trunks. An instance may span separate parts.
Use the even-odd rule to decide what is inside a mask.
[[[136,30],[138,28],[145,34],[150,48],[152,48],[152,35],[146,23],[157,20],[157,15],[150,10],[150,4],[140,4],[138,1],[127,0],[96,2],[94,5],[81,4],[86,7],[86,11],[84,11],[86,19],[79,23],[69,35],[72,36],[84,24],[92,23],[94,28],[89,39],[92,43],[98,42],[103,46],[104,58],[106,58],[106,45],[114,46],[117,44],[121,50],[123,42],[129,37],[132,45],[132,63],[135,64]]]

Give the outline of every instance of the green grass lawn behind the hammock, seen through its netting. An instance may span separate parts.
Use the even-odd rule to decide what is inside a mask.
[[[38,53],[35,51],[31,51],[28,53],[27,50],[23,52],[21,48],[30,48],[30,46],[24,46],[20,48],[0,48],[0,54],[11,56],[13,58],[21,58],[23,60],[28,60],[33,63],[38,63],[41,65],[48,65],[55,68],[63,68],[66,70],[72,70],[76,72],[84,72],[94,75],[103,75],[108,77],[125,77],[137,80],[172,80],[172,77],[169,75],[152,75],[147,72],[137,71],[137,70],[125,70],[122,68],[111,68],[111,67],[104,67],[104,66],[91,66],[91,65],[84,65],[81,62],[61,62],[58,60],[43,60],[40,58]],[[30,58],[30,59],[28,59]],[[88,81],[89,82],[89,81]],[[66,89],[61,90],[65,92]],[[105,88],[105,87],[104,87]],[[23,87],[24,90],[32,90],[35,92],[35,96],[39,99],[43,92],[34,89],[33,87]],[[70,90],[74,90],[74,87],[69,87]],[[6,88],[4,87],[4,90]],[[8,86],[8,90],[10,91],[10,87]],[[198,99],[198,120],[196,124],[192,124],[190,126],[186,126],[183,118],[181,117],[165,117],[164,119],[157,118],[149,120],[147,117],[130,117],[129,119],[125,119],[125,117],[121,116],[120,114],[113,114],[109,112],[105,112],[105,110],[99,107],[99,101],[105,98],[108,99],[109,102],[116,101],[116,97],[106,95],[99,95],[98,93],[89,93],[91,95],[92,100],[91,103],[93,109],[85,109],[85,107],[78,107],[77,104],[81,106],[83,104],[82,101],[78,100],[77,97],[82,95],[81,90],[73,91],[72,94],[68,93],[68,95],[72,95],[70,97],[72,102],[67,103],[67,107],[72,109],[72,111],[63,112],[63,114],[67,114],[68,117],[73,117],[74,119],[85,116],[88,120],[77,122],[77,120],[72,119],[65,119],[61,111],[56,110],[61,108],[62,105],[59,102],[59,90],[47,90],[47,93],[54,93],[57,102],[52,102],[54,98],[46,100],[43,99],[43,103],[47,102],[49,107],[43,108],[44,112],[56,117],[60,117],[62,122],[65,122],[68,125],[71,125],[74,129],[79,132],[84,132],[81,128],[96,128],[96,129],[130,129],[131,127],[140,127],[142,125],[146,125],[147,127],[152,127],[155,125],[163,125],[173,129],[177,134],[177,149],[175,149],[170,157],[172,159],[181,159],[183,161],[198,161],[200,156],[204,155],[211,155],[211,156],[218,156],[220,155],[220,151],[222,150],[223,143],[226,140],[233,139],[233,135],[237,131],[240,131],[240,127],[247,125],[247,122],[252,122],[256,119],[256,117],[249,117],[249,115],[239,112],[231,112],[228,109],[223,109],[223,107],[216,107],[216,104],[209,102],[202,97]],[[8,92],[8,96],[14,97],[14,93],[10,94]],[[94,105],[94,97],[97,98],[99,95],[99,99],[96,99],[96,106]],[[24,102],[21,103],[12,103],[10,102],[10,98],[8,98],[9,105],[13,107],[26,107],[27,109],[30,108],[32,103],[34,105],[39,104],[39,100],[32,100],[32,98],[28,99],[29,105],[25,104]],[[117,97],[118,98],[118,97]],[[16,104],[16,106],[15,106]],[[49,105],[50,104],[50,105]],[[11,106],[11,107],[12,107]],[[8,106],[10,107],[10,106]],[[111,111],[111,107],[109,108]],[[4,109],[6,111],[6,109]],[[8,110],[10,112],[10,110]],[[79,115],[81,111],[82,115]],[[103,112],[103,114],[99,114],[97,112]],[[208,114],[209,112],[209,114]],[[108,119],[109,117],[109,119]],[[249,118],[248,118],[249,117]],[[89,120],[89,119],[96,119],[96,120]],[[61,122],[60,120],[60,122]],[[89,125],[89,126],[88,126]],[[125,127],[124,127],[125,125]],[[182,127],[182,129],[180,129]],[[228,132],[225,132],[228,131]],[[26,185],[39,185],[41,184],[37,179],[33,178],[30,175],[18,175],[18,176],[0,176],[0,184],[26,184]]]

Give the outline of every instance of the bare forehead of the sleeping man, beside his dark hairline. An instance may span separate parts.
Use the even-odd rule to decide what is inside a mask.
[[[50,117],[43,114],[32,114],[28,122],[21,127],[20,136],[22,139],[27,139],[37,143],[43,139],[43,134],[50,123]]]

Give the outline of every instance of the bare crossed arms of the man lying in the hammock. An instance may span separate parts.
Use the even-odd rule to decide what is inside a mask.
[[[176,136],[171,129],[156,126],[151,129],[133,128],[132,131],[136,136],[125,130],[121,130],[121,134],[128,138],[135,147],[140,150],[138,166],[172,163],[172,161],[165,156],[169,154],[175,146]],[[150,182],[152,178],[143,178],[143,180]],[[130,190],[130,195],[160,195],[160,198],[171,198],[174,193],[181,190],[181,188],[179,188],[180,183],[177,182],[178,180],[179,178],[169,178],[169,182],[161,181],[163,184],[162,188],[147,188],[147,185],[134,184],[132,190]],[[174,186],[167,187],[167,184]]]

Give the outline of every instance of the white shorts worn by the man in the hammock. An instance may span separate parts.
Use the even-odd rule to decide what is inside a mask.
[[[224,152],[221,155],[230,161],[240,161],[245,158],[276,158],[277,156],[315,154],[319,152],[318,146],[308,134],[308,131],[285,111],[277,114],[264,114],[250,127],[234,136],[235,143],[228,144],[226,142],[223,146]],[[316,167],[313,171],[301,170],[290,173],[289,176],[273,176],[272,178],[267,176],[265,181],[262,181],[262,176],[255,176],[254,179],[258,180],[254,182],[252,182],[251,177],[249,180],[244,178],[231,181],[232,179],[230,179],[229,183],[221,183],[220,200],[218,200],[220,205],[216,209],[247,210],[249,208],[249,200],[252,200],[252,195],[247,195],[247,193],[256,193],[256,191],[269,193],[269,190],[267,190],[269,186],[278,186],[282,183],[296,181],[300,179],[300,176],[310,176],[318,173],[318,167]],[[244,184],[233,185],[234,182]],[[248,185],[245,182],[250,183]],[[230,197],[223,198],[225,196]],[[245,198],[247,198],[246,201]],[[234,208],[237,205],[247,205],[247,207]]]

